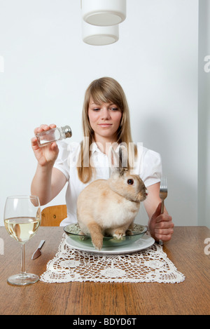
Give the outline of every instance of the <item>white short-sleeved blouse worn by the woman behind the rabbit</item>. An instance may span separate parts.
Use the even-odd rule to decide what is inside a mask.
[[[60,223],[60,226],[66,226],[67,224],[77,222],[76,203],[80,192],[90,184],[92,180],[107,180],[109,178],[110,168],[108,156],[99,150],[96,143],[93,143],[91,145],[92,155],[90,161],[92,161],[96,168],[96,175],[90,182],[84,184],[78,178],[76,166],[78,163],[78,155],[80,154],[80,143],[71,142],[67,144],[65,141],[59,141],[57,145],[59,147],[59,154],[54,167],[64,173],[68,182],[66,189],[67,217]],[[160,154],[151,149],[146,149],[141,143],[137,144],[137,148],[138,156],[134,163],[132,173],[139,175],[146,187],[160,182],[160,177],[162,175]]]

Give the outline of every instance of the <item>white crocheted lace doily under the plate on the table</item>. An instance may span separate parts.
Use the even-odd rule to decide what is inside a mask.
[[[97,255],[71,248],[63,234],[55,257],[47,264],[41,281],[62,283],[71,281],[94,282],[158,282],[180,283],[185,276],[154,243],[137,253],[125,255]]]

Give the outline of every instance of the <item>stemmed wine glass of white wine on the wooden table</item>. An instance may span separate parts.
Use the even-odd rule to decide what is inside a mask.
[[[25,271],[25,243],[31,239],[41,224],[41,208],[38,196],[8,196],[4,208],[4,224],[8,234],[20,242],[21,273],[8,278],[8,283],[18,286],[35,283],[39,277]]]

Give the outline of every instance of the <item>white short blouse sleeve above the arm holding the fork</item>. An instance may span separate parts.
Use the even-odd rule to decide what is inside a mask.
[[[141,154],[140,177],[146,187],[160,182],[162,176],[162,160],[159,153],[144,149]]]

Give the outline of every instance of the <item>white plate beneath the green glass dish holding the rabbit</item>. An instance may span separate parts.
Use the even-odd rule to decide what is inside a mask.
[[[105,254],[105,255],[118,255],[118,254],[127,254],[127,253],[134,253],[139,250],[143,250],[153,246],[155,240],[151,238],[151,236],[147,236],[146,234],[140,238],[139,240],[125,245],[125,246],[118,246],[118,247],[103,247],[102,250],[96,250],[94,246],[85,246],[83,243],[74,241],[70,238],[70,236],[66,237],[66,243],[74,249],[85,251],[87,253],[97,253],[97,254]]]

